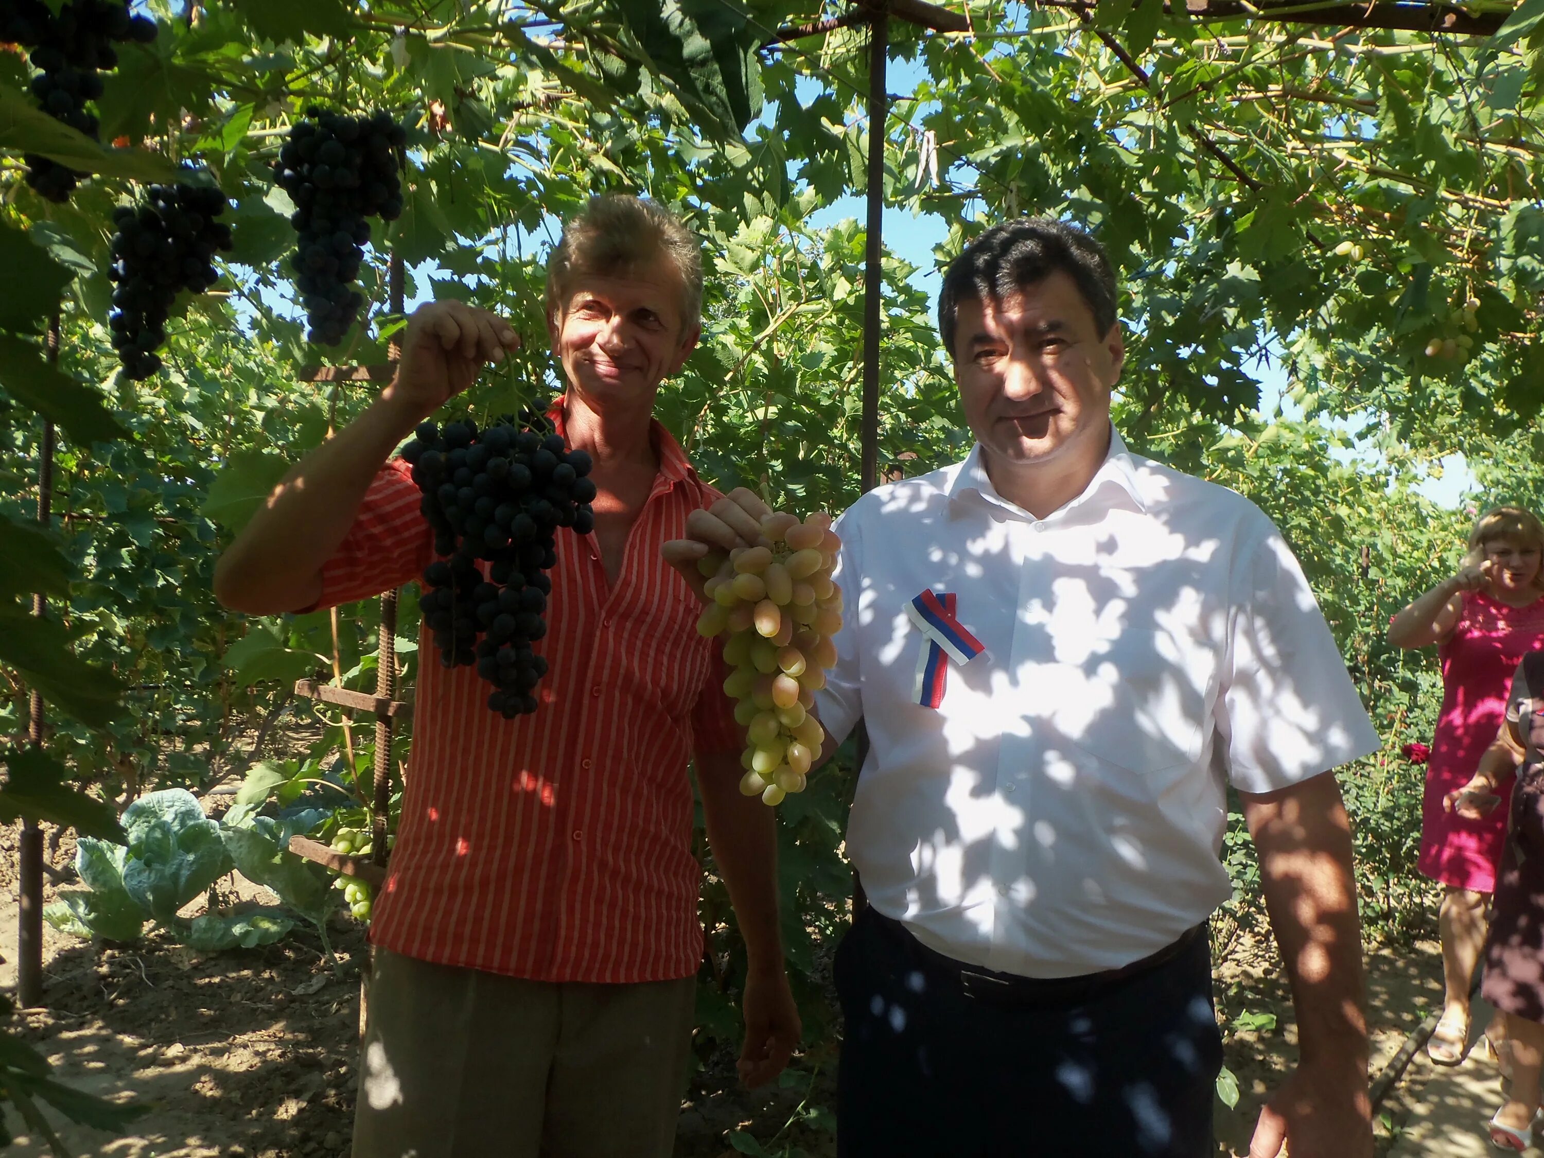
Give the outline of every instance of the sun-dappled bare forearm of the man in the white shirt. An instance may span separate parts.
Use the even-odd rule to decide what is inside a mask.
[[[1362,923],[1340,787],[1325,774],[1243,803],[1303,1062],[1345,1064],[1365,1079]]]

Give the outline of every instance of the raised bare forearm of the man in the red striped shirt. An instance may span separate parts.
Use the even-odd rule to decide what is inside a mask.
[[[215,596],[238,611],[278,615],[321,594],[321,567],[354,525],[371,480],[422,415],[392,388],[307,454],[252,516],[215,567]]]

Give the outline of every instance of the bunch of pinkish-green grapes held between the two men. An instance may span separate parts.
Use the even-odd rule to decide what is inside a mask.
[[[710,551],[698,564],[712,602],[696,630],[726,636],[724,662],[733,670],[724,692],[746,727],[740,791],[767,804],[803,792],[820,760],[824,732],[811,709],[837,662],[841,588],[831,570],[840,547],[829,514],[800,522],[777,513],[761,520],[757,545]]]

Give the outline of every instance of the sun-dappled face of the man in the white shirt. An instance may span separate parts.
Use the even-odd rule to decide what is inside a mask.
[[[988,459],[1034,466],[1102,446],[1126,349],[1101,335],[1078,283],[1055,270],[999,301],[959,303],[954,378]]]

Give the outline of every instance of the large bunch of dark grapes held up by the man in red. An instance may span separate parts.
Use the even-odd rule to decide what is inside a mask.
[[[494,686],[488,707],[505,720],[534,712],[547,659],[533,644],[547,635],[557,528],[594,530],[590,455],[527,415],[482,431],[469,418],[443,431],[429,422],[401,457],[423,491],[435,553],[449,556],[425,570],[418,601],[440,659],[476,664]]]

